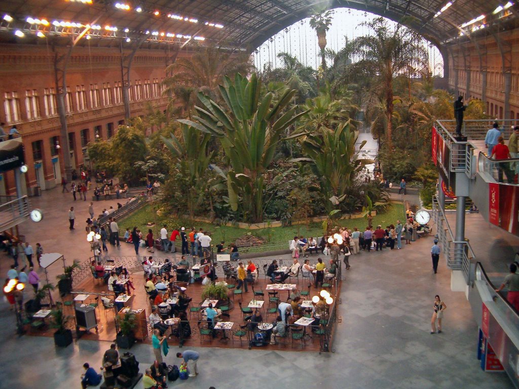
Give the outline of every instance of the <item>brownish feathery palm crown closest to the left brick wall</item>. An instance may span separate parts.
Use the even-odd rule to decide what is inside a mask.
[[[177,101],[176,94],[179,94],[183,107],[190,109],[198,92],[214,96],[224,76],[234,77],[240,72],[247,74],[251,68],[247,54],[230,53],[216,47],[200,48],[191,57],[177,58],[166,67],[167,74],[171,76],[163,81],[166,86],[163,94],[174,96],[171,107]]]

